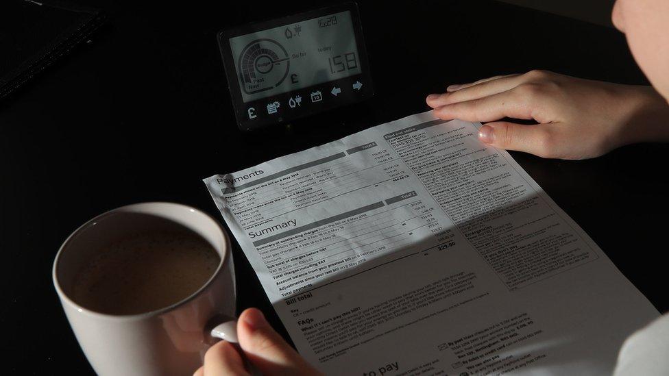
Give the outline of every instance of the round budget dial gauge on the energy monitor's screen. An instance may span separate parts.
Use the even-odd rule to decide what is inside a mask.
[[[239,75],[246,94],[271,90],[288,76],[288,52],[272,39],[250,42],[239,54]]]

